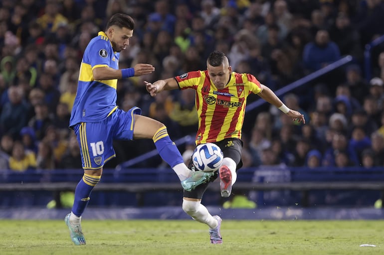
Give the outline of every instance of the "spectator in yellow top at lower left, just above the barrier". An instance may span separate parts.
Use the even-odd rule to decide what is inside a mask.
[[[23,172],[35,168],[36,156],[34,152],[25,151],[21,142],[14,142],[12,156],[9,158],[9,169]]]

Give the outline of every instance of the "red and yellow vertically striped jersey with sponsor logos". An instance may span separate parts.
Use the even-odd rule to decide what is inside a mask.
[[[210,81],[207,71],[189,72],[175,79],[180,89],[196,90],[196,145],[241,138],[247,97],[261,91],[260,83],[253,75],[232,72],[228,85],[219,90]]]

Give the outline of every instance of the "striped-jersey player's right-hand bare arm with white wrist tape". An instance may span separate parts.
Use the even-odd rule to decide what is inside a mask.
[[[298,120],[305,124],[304,115],[298,111],[289,109],[269,87],[261,84],[261,91],[257,95],[279,108],[282,112],[291,117],[293,121]]]

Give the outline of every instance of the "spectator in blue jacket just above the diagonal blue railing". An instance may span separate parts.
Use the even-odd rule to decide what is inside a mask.
[[[339,47],[330,41],[327,30],[319,30],[315,40],[304,46],[303,62],[310,72],[317,71],[339,59]]]

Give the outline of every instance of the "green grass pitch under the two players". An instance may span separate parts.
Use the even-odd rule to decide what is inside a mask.
[[[223,220],[211,245],[193,220],[83,220],[74,246],[63,220],[0,220],[0,255],[383,255],[384,221]],[[374,244],[377,247],[360,247]]]

